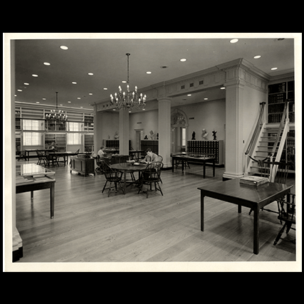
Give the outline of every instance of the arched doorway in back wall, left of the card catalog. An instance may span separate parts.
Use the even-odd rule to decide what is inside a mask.
[[[171,113],[171,152],[183,152],[187,148],[188,118],[179,109]]]

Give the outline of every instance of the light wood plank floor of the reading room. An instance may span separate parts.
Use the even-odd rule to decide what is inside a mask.
[[[221,180],[224,168],[191,164],[162,172],[162,192],[101,193],[105,177],[56,171],[55,217],[50,219],[49,191],[16,194],[17,229],[26,262],[194,262],[295,261],[295,231],[283,234],[276,214],[261,211],[260,253],[253,254],[253,214],[243,207],[205,197],[205,231],[200,231],[200,192],[197,187]],[[293,181],[291,181],[293,182]],[[276,209],[275,204],[269,205]]]

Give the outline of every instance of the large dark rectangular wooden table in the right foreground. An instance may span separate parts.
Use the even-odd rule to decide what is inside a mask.
[[[227,201],[239,206],[253,209],[253,253],[259,249],[259,211],[263,206],[271,204],[276,199],[285,196],[293,186],[285,184],[267,183],[261,186],[240,184],[240,179],[230,179],[226,182],[214,182],[206,187],[199,187],[201,191],[201,231],[204,231],[204,197],[209,196],[221,201]]]

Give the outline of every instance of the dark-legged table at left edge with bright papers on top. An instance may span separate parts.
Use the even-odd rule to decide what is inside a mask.
[[[33,199],[34,191],[50,189],[51,219],[54,217],[55,182],[55,172],[38,164],[16,165],[16,194],[31,192],[31,199]]]

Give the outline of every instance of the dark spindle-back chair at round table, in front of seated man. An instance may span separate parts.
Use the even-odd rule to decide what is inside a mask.
[[[142,191],[142,187],[144,184],[147,184],[147,197],[149,192],[149,186],[150,186],[150,190],[152,190],[152,184],[154,184],[155,192],[159,190],[160,193],[162,194],[162,189],[159,186],[159,182],[160,182],[160,174],[162,173],[163,166],[164,164],[162,162],[152,162],[151,164],[147,165],[147,167],[142,171],[142,178],[140,180],[140,186],[139,186],[140,189],[138,190],[137,194],[139,194],[140,191]]]

